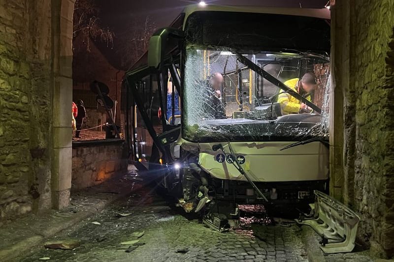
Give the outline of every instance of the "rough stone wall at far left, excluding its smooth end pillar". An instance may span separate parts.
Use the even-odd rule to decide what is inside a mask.
[[[0,220],[51,206],[50,12],[0,1]]]

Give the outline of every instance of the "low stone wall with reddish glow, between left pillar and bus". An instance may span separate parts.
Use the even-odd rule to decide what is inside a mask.
[[[123,141],[74,142],[71,190],[79,190],[127,173],[128,156]]]

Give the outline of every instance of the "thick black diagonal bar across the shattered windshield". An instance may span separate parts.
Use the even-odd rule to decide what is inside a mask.
[[[314,103],[312,103],[311,101],[309,101],[308,99],[306,99],[305,97],[303,97],[302,95],[297,93],[292,88],[290,88],[290,87],[286,86],[285,84],[283,84],[281,81],[279,81],[277,78],[275,78],[270,73],[265,71],[263,68],[261,68],[260,66],[258,66],[254,62],[252,62],[249,58],[246,58],[246,57],[242,56],[242,54],[240,54],[238,52],[235,52],[235,54],[237,55],[237,58],[244,65],[246,65],[247,67],[249,67],[250,69],[252,69],[256,73],[258,73],[260,76],[262,76],[263,78],[265,78],[266,80],[268,80],[269,82],[274,84],[275,86],[281,88],[283,91],[286,91],[290,95],[294,96],[298,100],[301,100],[304,104],[306,104],[308,107],[312,108],[318,114],[322,113],[322,110],[317,105],[315,105]]]

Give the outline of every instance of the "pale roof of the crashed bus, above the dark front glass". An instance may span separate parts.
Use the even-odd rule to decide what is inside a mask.
[[[260,6],[238,6],[238,5],[200,5],[191,4],[185,7],[181,14],[185,14],[183,18],[184,29],[187,18],[198,11],[222,11],[222,12],[242,12],[242,13],[261,13],[261,14],[278,14],[278,15],[295,15],[295,16],[307,16],[316,17],[321,19],[330,19],[330,11],[327,8],[281,8],[281,7],[260,7]],[[174,25],[178,16],[172,23]],[[129,72],[140,67],[144,67],[147,64],[148,55],[147,52],[139,58],[128,70]]]

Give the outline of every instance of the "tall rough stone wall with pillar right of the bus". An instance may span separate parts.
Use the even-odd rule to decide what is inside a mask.
[[[359,240],[380,257],[394,255],[393,28],[393,0],[332,8],[333,195],[360,213]]]

